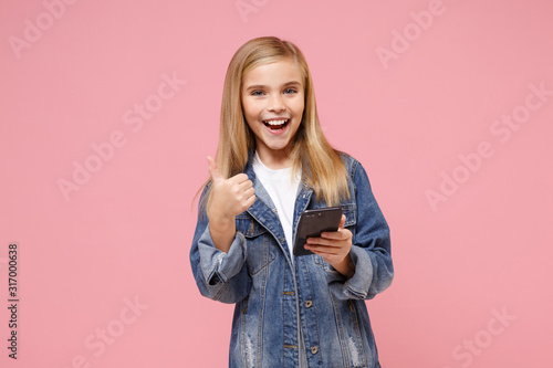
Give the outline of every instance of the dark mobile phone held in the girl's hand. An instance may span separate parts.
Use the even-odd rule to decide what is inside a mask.
[[[320,238],[322,232],[337,231],[342,219],[341,207],[326,207],[305,210],[300,218],[295,233],[294,255],[313,254],[304,248],[307,238]]]

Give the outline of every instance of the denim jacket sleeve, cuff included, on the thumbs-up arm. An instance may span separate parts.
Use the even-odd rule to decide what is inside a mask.
[[[237,303],[249,294],[251,278],[246,266],[246,238],[237,232],[229,252],[218,250],[209,232],[206,206],[208,187],[198,206],[198,222],[190,249],[190,264],[201,295],[222,303]]]

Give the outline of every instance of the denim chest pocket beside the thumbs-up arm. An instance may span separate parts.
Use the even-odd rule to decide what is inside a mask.
[[[246,263],[250,275],[255,275],[276,257],[275,246],[265,228],[249,214],[238,215],[237,231],[246,238]]]

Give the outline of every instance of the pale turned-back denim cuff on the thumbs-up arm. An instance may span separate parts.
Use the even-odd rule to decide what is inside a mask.
[[[242,269],[246,260],[246,238],[237,232],[229,252],[225,253],[215,246],[209,227],[206,227],[198,240],[198,252],[201,272],[207,284],[213,286],[226,283]]]

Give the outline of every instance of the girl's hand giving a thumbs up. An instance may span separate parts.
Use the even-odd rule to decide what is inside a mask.
[[[229,227],[234,223],[234,217],[249,209],[255,201],[253,183],[246,174],[239,174],[225,179],[215,160],[208,156],[208,168],[211,175],[211,198],[207,214],[211,225]]]

